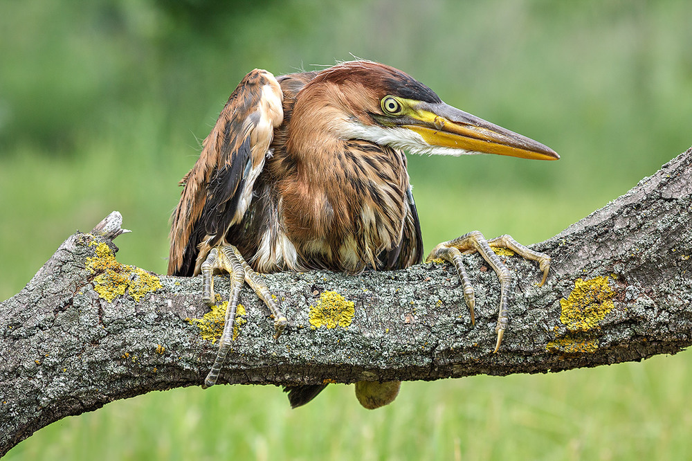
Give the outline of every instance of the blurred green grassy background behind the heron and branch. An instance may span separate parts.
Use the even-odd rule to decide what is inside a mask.
[[[111,210],[134,231],[118,260],[165,272],[176,183],[237,82],[352,55],[562,156],[411,157],[428,249],[472,229],[546,239],[692,145],[691,17],[685,1],[2,1],[0,299]],[[6,459],[680,460],[690,363],[405,383],[375,411],[347,386],[298,410],[273,387],[156,392]]]

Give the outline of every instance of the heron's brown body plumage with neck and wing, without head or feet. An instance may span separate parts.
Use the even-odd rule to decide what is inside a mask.
[[[340,138],[330,127],[347,108],[359,118],[379,109],[379,100],[345,85],[360,77],[353,73],[355,63],[349,64],[278,78],[284,116],[274,110],[266,117],[273,139],[256,120],[262,114],[262,88],[273,96],[276,81],[258,70],[244,78],[204,141],[199,161],[183,178],[169,273],[197,275],[219,242],[237,246],[255,270],[265,273],[358,273],[421,261],[420,226],[407,197],[406,156],[391,147]],[[394,72],[368,64],[370,72],[363,76],[374,82]],[[373,69],[381,75],[371,75]],[[340,105],[320,102],[334,100]],[[271,102],[265,107],[275,109]],[[253,198],[244,205],[239,195],[248,190]]]

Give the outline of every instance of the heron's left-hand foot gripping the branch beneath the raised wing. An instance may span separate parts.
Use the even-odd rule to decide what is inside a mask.
[[[204,380],[203,388],[208,388],[216,384],[221,366],[223,366],[224,361],[226,361],[226,355],[233,341],[235,313],[238,307],[238,298],[243,282],[248,282],[255,293],[257,293],[257,296],[264,301],[264,304],[267,305],[271,314],[274,316],[274,338],[279,337],[288,323],[286,316],[284,316],[277,302],[269,292],[266,283],[262,281],[260,275],[257,275],[257,272],[253,271],[238,249],[233,245],[215,246],[201,265],[202,300],[207,305],[212,306],[215,303],[214,274],[223,271],[230,274],[230,296],[228,297],[228,307],[226,307],[226,323],[224,324],[224,332],[221,334],[221,340],[219,341],[217,358]]]

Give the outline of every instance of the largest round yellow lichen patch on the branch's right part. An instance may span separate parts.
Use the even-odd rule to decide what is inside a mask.
[[[574,289],[567,299],[561,299],[560,321],[571,332],[587,332],[599,326],[599,322],[614,307],[612,298],[615,290],[610,287],[608,277],[574,282]]]

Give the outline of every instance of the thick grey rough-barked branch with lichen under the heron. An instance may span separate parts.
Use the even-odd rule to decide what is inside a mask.
[[[555,237],[547,283],[536,264],[513,271],[509,328],[495,344],[499,284],[466,255],[476,290],[472,326],[448,264],[403,271],[266,275],[290,325],[274,340],[268,311],[247,288],[246,323],[220,383],[352,383],[537,373],[675,354],[692,332],[692,149]],[[200,278],[155,275],[118,263],[113,213],[75,233],[16,296],[0,303],[0,455],[68,415],[150,390],[203,382],[217,345],[198,323]],[[156,284],[160,283],[160,287]],[[226,295],[226,278],[215,287]],[[354,302],[335,307],[336,291]],[[112,299],[111,299],[112,298]],[[311,307],[312,314],[311,314]],[[336,306],[338,307],[338,306]],[[328,313],[327,313],[328,314]]]

